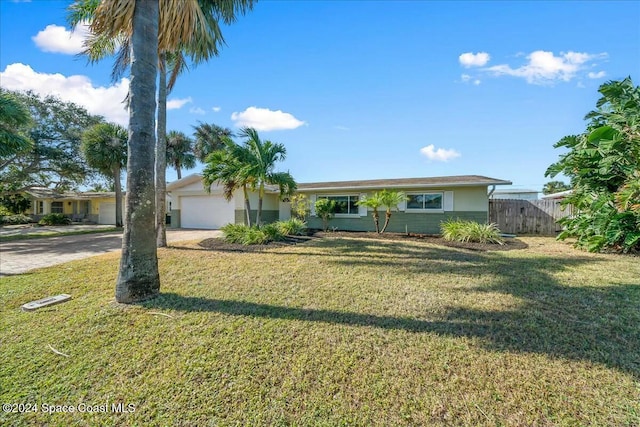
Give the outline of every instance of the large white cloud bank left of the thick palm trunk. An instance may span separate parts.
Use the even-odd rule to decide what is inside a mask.
[[[122,102],[129,91],[129,79],[126,78],[112,86],[94,86],[87,76],[38,73],[28,65],[15,63],[0,72],[0,84],[9,90],[54,95],[85,107],[91,114],[104,116],[108,121],[124,126],[129,123],[129,112]]]

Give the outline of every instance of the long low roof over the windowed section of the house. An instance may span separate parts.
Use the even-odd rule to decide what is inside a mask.
[[[298,184],[298,191],[382,189],[382,188],[437,188],[468,187],[478,185],[511,185],[511,181],[480,175],[437,176],[425,178],[370,179],[358,181],[330,181]]]

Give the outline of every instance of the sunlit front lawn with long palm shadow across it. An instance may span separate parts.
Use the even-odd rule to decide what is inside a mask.
[[[117,253],[0,278],[0,401],[135,405],[0,424],[637,426],[639,259],[523,240],[185,244],[133,306]]]

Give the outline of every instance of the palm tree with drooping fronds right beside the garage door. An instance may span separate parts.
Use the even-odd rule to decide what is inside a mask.
[[[241,162],[249,167],[248,175],[253,178],[252,189],[258,190],[256,225],[260,226],[265,186],[277,185],[280,197],[286,197],[295,192],[297,185],[289,172],[274,172],[276,162],[286,158],[287,150],[284,145],[260,140],[258,132],[253,128],[242,128],[239,136],[246,138]]]

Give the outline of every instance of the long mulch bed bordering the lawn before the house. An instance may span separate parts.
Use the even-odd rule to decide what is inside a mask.
[[[288,237],[282,242],[271,242],[266,245],[241,245],[238,243],[227,243],[223,239],[205,239],[198,243],[198,246],[213,251],[224,252],[261,252],[265,249],[273,249],[277,247],[303,244],[310,240],[321,238],[351,238],[351,239],[377,239],[377,240],[395,240],[404,242],[424,242],[438,246],[447,246],[450,248],[466,249],[470,251],[488,252],[488,251],[511,251],[517,249],[526,249],[528,245],[518,239],[505,239],[504,245],[482,244],[482,243],[462,243],[449,242],[439,236],[425,234],[403,234],[403,233],[384,233],[377,234],[374,232],[355,232],[355,231],[335,231],[323,232],[318,231],[311,236]]]

